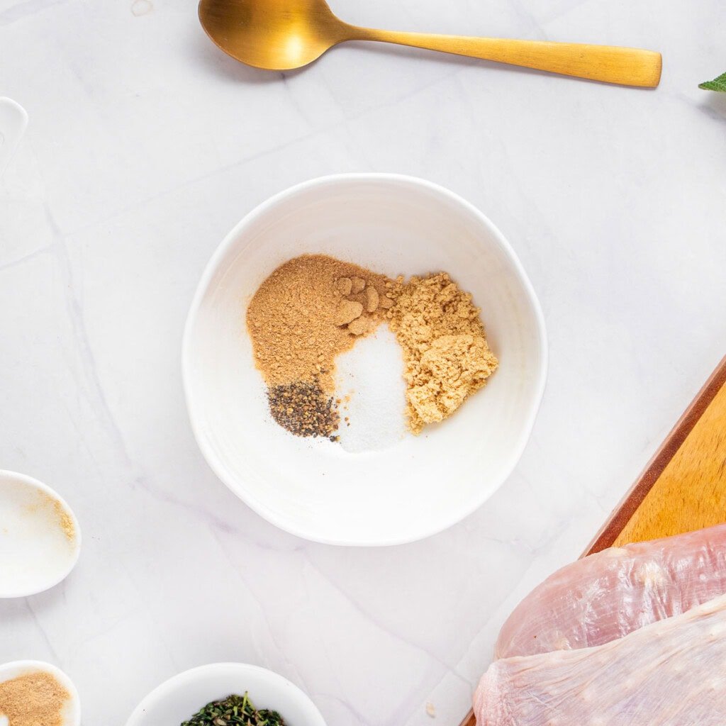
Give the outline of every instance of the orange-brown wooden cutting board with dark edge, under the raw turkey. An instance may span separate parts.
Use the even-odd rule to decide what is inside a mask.
[[[726,358],[584,555],[726,521]],[[583,555],[583,556],[584,556]],[[461,726],[476,726],[470,711]]]

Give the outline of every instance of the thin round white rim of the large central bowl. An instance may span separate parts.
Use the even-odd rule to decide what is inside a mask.
[[[473,216],[476,216],[478,221],[480,221],[484,227],[489,229],[489,232],[492,233],[492,236],[499,245],[499,248],[501,248],[501,250],[507,256],[507,259],[510,261],[512,268],[518,277],[518,280],[521,282],[523,290],[526,293],[526,297],[534,313],[534,318],[537,321],[537,343],[539,345],[539,349],[542,351],[542,359],[539,365],[539,370],[537,372],[537,388],[534,396],[532,396],[529,414],[527,415],[526,420],[523,423],[519,439],[516,445],[512,446],[512,448],[510,449],[507,465],[502,468],[502,474],[497,478],[497,481],[494,481],[494,486],[489,487],[489,491],[483,492],[480,497],[476,497],[476,499],[473,499],[470,504],[461,507],[457,513],[449,516],[446,521],[437,523],[436,526],[430,527],[425,531],[421,531],[419,534],[408,535],[406,537],[386,537],[383,539],[378,538],[375,540],[367,540],[364,542],[360,541],[359,539],[333,539],[330,537],[319,537],[318,535],[314,534],[314,532],[306,531],[306,529],[304,528],[297,527],[290,522],[283,521],[283,518],[278,517],[274,513],[274,511],[269,510],[268,507],[262,504],[262,502],[258,502],[254,497],[250,497],[248,495],[248,492],[243,491],[242,487],[237,484],[237,481],[234,477],[227,476],[226,468],[224,468],[224,466],[222,466],[217,459],[216,454],[213,452],[211,446],[206,441],[205,436],[203,435],[200,426],[197,423],[195,402],[192,396],[192,375],[190,370],[192,328],[194,327],[194,324],[196,322],[197,313],[199,312],[204,296],[207,293],[209,283],[213,277],[213,274],[218,269],[221,259],[224,258],[224,256],[227,254],[227,251],[229,250],[229,248],[232,247],[234,242],[237,240],[237,237],[240,236],[242,230],[245,227],[248,227],[248,225],[258,219],[260,216],[264,215],[267,211],[269,211],[269,209],[274,208],[276,205],[280,204],[281,202],[287,200],[290,197],[294,197],[295,195],[301,194],[302,192],[306,192],[308,189],[313,189],[314,187],[325,187],[327,185],[334,185],[338,184],[341,181],[398,181],[403,184],[410,184],[412,187],[423,187],[423,189],[428,189],[429,191],[446,197],[452,202],[465,208],[466,211],[473,214]],[[245,502],[245,504],[248,505],[251,510],[256,512],[262,518],[266,519],[266,521],[268,521],[269,523],[277,526],[279,529],[287,531],[290,534],[294,534],[296,537],[301,537],[302,539],[309,540],[310,542],[319,542],[320,544],[335,544],[343,547],[390,547],[396,544],[409,544],[411,542],[419,542],[422,539],[433,537],[434,534],[439,534],[440,532],[449,529],[449,527],[452,527],[454,526],[454,524],[457,524],[460,521],[464,520],[465,518],[476,512],[479,507],[484,505],[484,503],[490,497],[492,497],[494,492],[497,492],[501,488],[502,484],[507,481],[507,478],[511,476],[517,463],[521,459],[527,443],[529,442],[532,429],[534,428],[534,421],[537,419],[537,413],[539,412],[539,407],[542,404],[542,397],[544,396],[544,386],[547,382],[548,364],[549,351],[547,348],[547,331],[544,325],[544,314],[542,313],[542,306],[539,304],[537,293],[534,292],[534,287],[532,286],[529,277],[527,276],[521,262],[519,261],[517,254],[513,250],[510,243],[507,242],[504,234],[500,232],[499,228],[492,222],[491,219],[489,219],[489,217],[487,217],[482,211],[476,208],[476,206],[465,200],[464,197],[461,197],[456,192],[452,192],[450,189],[446,189],[446,187],[442,187],[440,184],[436,184],[433,181],[420,179],[417,176],[409,176],[407,174],[391,174],[388,172],[353,172],[347,174],[329,174],[327,176],[318,176],[315,179],[309,179],[308,181],[302,181],[299,184],[294,184],[292,187],[283,189],[282,192],[277,192],[277,194],[269,197],[267,200],[260,203],[250,212],[245,214],[245,216],[242,217],[242,219],[237,222],[237,224],[235,224],[234,227],[232,227],[232,229],[227,233],[227,235],[224,237],[224,240],[222,240],[219,247],[214,250],[210,260],[205,266],[202,277],[197,284],[194,298],[192,298],[192,305],[190,306],[189,313],[187,314],[187,322],[184,325],[184,335],[181,342],[181,378],[184,386],[184,398],[186,399],[187,403],[189,423],[192,426],[192,432],[194,433],[195,439],[197,440],[197,444],[211,470],[213,470],[216,476],[232,492],[234,492],[237,497],[242,499],[242,501]]]

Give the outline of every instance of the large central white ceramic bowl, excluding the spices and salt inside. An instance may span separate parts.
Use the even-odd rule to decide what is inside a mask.
[[[267,411],[245,310],[277,266],[303,253],[389,275],[449,272],[481,306],[499,370],[449,420],[384,449],[290,436]],[[288,189],[232,229],[192,302],[182,368],[200,448],[253,510],[317,542],[382,545],[446,529],[501,486],[529,439],[547,346],[534,290],[486,216],[427,181],[346,174]]]

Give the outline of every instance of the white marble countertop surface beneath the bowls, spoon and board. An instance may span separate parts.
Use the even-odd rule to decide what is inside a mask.
[[[636,91],[435,54],[335,49],[261,73],[194,0],[0,0],[0,95],[30,126],[0,181],[0,468],[85,535],[60,587],[0,602],[0,661],[54,662],[87,725],[211,661],[267,666],[330,726],[457,726],[497,627],[576,558],[726,352],[726,7],[337,0],[351,22],[664,54]],[[666,9],[667,8],[667,9]],[[298,181],[396,171],[460,192],[542,301],[550,378],[475,515],[385,550],[262,521],[197,450],[182,325],[203,265]],[[436,717],[427,714],[427,703]]]

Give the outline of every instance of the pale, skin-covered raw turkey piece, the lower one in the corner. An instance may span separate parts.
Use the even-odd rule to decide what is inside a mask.
[[[597,648],[495,661],[478,726],[724,726],[726,597]]]

